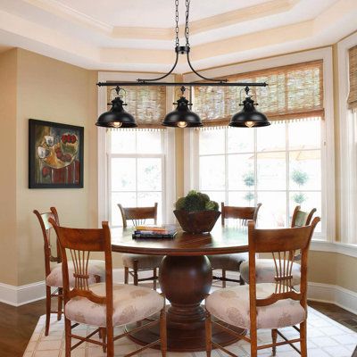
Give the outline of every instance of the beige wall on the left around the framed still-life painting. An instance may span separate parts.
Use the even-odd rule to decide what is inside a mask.
[[[1,179],[6,199],[1,209],[6,207],[4,217],[8,222],[7,226],[2,222],[2,240],[7,239],[9,244],[1,245],[1,263],[6,268],[0,270],[0,281],[20,286],[44,278],[43,240],[32,213],[35,208],[44,212],[56,206],[62,222],[69,226],[96,225],[96,72],[21,49],[3,54],[1,59],[4,71],[6,59],[11,62],[12,68],[8,67],[17,73],[12,76],[17,86],[9,83],[12,86],[0,89],[3,97],[9,96],[6,107],[12,111],[11,115],[2,115],[8,117],[6,123],[11,128],[6,131],[3,125],[0,134],[4,137],[2,145],[8,143],[3,153],[9,154],[3,162],[10,173]],[[85,127],[84,188],[28,188],[29,118]],[[1,217],[3,220],[3,212]]]

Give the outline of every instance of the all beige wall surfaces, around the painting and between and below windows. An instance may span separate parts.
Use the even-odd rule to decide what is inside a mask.
[[[336,47],[334,47],[336,60]],[[32,210],[55,205],[62,223],[95,227],[97,222],[97,73],[48,57],[15,49],[0,54],[0,145],[6,171],[0,176],[0,282],[20,286],[44,278],[43,243]],[[335,91],[338,73],[334,64]],[[335,95],[335,104],[338,98]],[[28,120],[51,120],[85,127],[83,189],[28,188]],[[338,108],[335,108],[336,169],[338,168]],[[177,196],[184,194],[183,130],[176,131]],[[337,171],[337,170],[336,170]],[[338,171],[336,202],[339,207]],[[75,214],[73,214],[75,212]],[[338,212],[338,211],[336,211]],[[337,220],[338,223],[338,220]],[[338,224],[337,224],[338,227]],[[339,237],[337,231],[337,237]],[[114,257],[120,266],[120,256]],[[343,286],[357,292],[357,259],[338,253],[311,252],[309,280]]]

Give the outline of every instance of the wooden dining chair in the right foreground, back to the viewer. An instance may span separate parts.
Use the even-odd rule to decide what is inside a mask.
[[[250,285],[233,286],[216,290],[206,299],[206,352],[211,356],[212,347],[234,356],[221,345],[212,341],[212,324],[244,339],[251,345],[251,356],[256,357],[258,350],[272,348],[276,355],[277,346],[291,345],[296,352],[307,357],[306,320],[307,320],[307,258],[311,237],[320,218],[316,217],[311,225],[283,228],[256,229],[253,220],[248,222]],[[301,251],[300,290],[293,286],[292,266],[295,253]],[[271,253],[275,262],[273,283],[257,284],[255,275],[256,253]],[[220,322],[213,322],[212,316],[232,326],[249,329],[250,336],[238,335]],[[296,328],[295,325],[300,325]],[[298,338],[289,339],[279,328],[292,327]],[[257,330],[271,330],[271,344],[258,345]],[[278,342],[278,336],[282,341]],[[300,344],[300,350],[296,344]]]

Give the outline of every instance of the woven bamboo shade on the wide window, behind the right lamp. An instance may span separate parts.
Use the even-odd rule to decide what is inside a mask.
[[[303,62],[227,77],[231,82],[267,82],[268,87],[251,87],[257,110],[269,120],[323,118],[322,61]],[[241,110],[239,87],[195,87],[193,110],[203,125],[228,124]],[[242,100],[245,92],[242,92]]]

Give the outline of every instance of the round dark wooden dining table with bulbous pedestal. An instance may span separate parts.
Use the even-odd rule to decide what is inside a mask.
[[[212,287],[212,267],[206,255],[248,251],[246,228],[222,228],[216,224],[211,233],[190,234],[179,230],[172,239],[133,239],[131,228],[112,228],[112,252],[162,255],[159,281],[170,301],[167,311],[168,350],[194,352],[205,350],[205,311],[201,303]],[[144,321],[142,322],[145,323]],[[244,334],[245,330],[224,324]],[[134,331],[137,323],[125,328],[139,345],[159,338],[159,328]],[[213,341],[230,345],[237,341],[222,329],[213,329]]]

